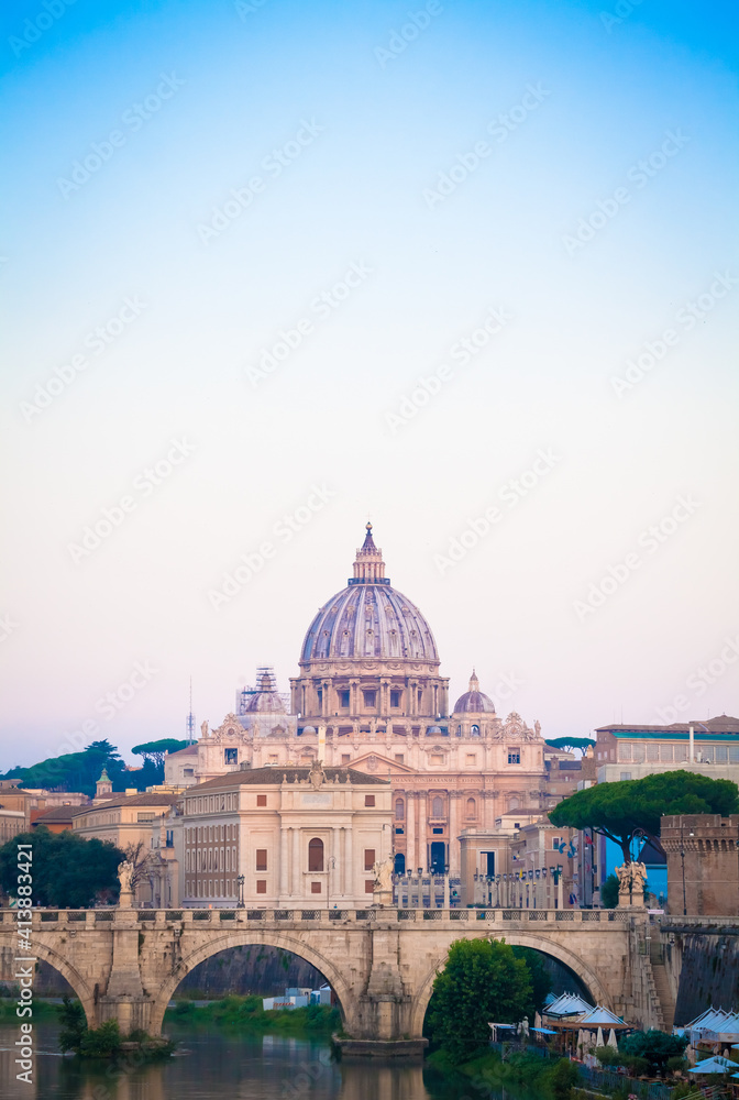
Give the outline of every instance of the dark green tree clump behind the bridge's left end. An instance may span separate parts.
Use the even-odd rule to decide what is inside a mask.
[[[84,840],[74,833],[49,833],[40,825],[0,848],[0,886],[13,894],[18,882],[18,845],[33,849],[33,901],[59,909],[87,909],[101,894],[115,899],[118,865],[123,853],[112,844]]]

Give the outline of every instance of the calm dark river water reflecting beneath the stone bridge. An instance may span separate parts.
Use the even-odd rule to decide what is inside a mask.
[[[0,1025],[3,1100],[533,1100],[521,1091],[444,1080],[420,1065],[335,1063],[323,1041],[167,1023],[177,1054],[121,1071],[62,1057],[55,1023],[40,1021],[33,1031],[33,1084],[26,1085],[15,1079],[19,1028]]]

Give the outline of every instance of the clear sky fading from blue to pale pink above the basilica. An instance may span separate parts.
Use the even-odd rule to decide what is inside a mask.
[[[739,712],[736,6],[1,23],[0,769],[287,691],[367,519],[452,698]]]

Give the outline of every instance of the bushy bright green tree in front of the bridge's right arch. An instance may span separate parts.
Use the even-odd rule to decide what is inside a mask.
[[[457,939],[433,982],[429,1037],[453,1063],[484,1049],[488,1021],[518,1023],[533,1015],[531,974],[505,939]]]

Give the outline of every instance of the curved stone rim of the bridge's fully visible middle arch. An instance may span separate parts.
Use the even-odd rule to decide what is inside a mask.
[[[222,936],[208,938],[207,942],[192,947],[183,958],[175,971],[159,988],[154,1003],[152,1004],[151,1026],[152,1035],[158,1035],[162,1031],[164,1013],[167,1009],[172,996],[190,970],[194,970],[200,963],[205,963],[219,952],[229,950],[231,947],[277,947],[282,950],[290,952],[315,966],[320,970],[326,980],[333,989],[339,1000],[339,1011],[348,1028],[351,1028],[355,1019],[355,999],[352,990],[346,983],[340,970],[331,963],[326,955],[316,950],[315,947],[306,944],[298,936],[280,932],[260,932],[257,930],[244,930],[243,932],[230,932]]]

